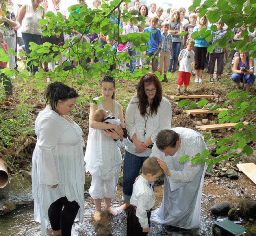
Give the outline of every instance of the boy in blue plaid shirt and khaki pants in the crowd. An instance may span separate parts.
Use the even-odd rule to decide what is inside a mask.
[[[164,79],[163,82],[168,82],[168,79],[166,77],[166,73],[168,71],[170,58],[171,58],[171,52],[172,52],[172,35],[169,33],[170,24],[168,21],[164,21],[162,23],[162,46],[161,50],[159,52],[160,54],[160,61],[158,64],[158,71],[160,75],[162,74],[162,69],[164,65]]]

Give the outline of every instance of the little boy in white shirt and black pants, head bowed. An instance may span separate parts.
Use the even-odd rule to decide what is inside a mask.
[[[142,165],[142,174],[133,184],[128,208],[127,236],[145,236],[149,232],[151,208],[155,204],[154,182],[164,172],[156,157],[149,157]]]

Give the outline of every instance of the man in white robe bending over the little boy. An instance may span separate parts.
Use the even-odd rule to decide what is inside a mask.
[[[164,170],[164,194],[150,220],[185,229],[199,228],[205,164],[193,165],[191,158],[205,149],[204,137],[192,129],[177,127],[158,133],[151,156],[158,157]],[[185,155],[188,161],[180,162]]]

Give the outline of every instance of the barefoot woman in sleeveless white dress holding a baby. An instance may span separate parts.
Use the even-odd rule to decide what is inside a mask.
[[[104,200],[104,208],[109,213],[112,198],[116,196],[118,177],[121,171],[122,156],[114,139],[121,139],[124,135],[120,126],[111,123],[95,121],[94,114],[98,109],[111,111],[116,119],[124,124],[124,115],[121,105],[114,100],[116,81],[105,76],[100,81],[100,97],[94,98],[90,107],[89,134],[84,161],[86,172],[92,175],[92,183],[89,189],[94,199],[94,220],[101,218],[101,202]],[[108,130],[111,131],[108,131]]]

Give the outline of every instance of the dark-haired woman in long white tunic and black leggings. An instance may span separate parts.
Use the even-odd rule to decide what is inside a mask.
[[[78,214],[84,217],[84,161],[82,129],[68,116],[78,93],[60,82],[46,91],[46,108],[36,118],[36,147],[32,157],[34,218],[46,235],[71,236]],[[64,206],[64,208],[63,208]]]

